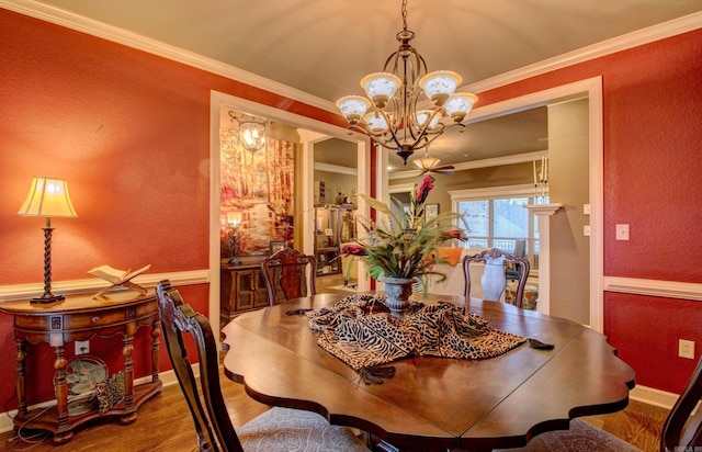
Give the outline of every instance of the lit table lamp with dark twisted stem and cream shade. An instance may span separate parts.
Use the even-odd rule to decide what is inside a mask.
[[[44,294],[32,298],[31,303],[54,303],[64,300],[63,295],[52,294],[52,217],[76,218],[76,210],[68,196],[68,182],[64,179],[35,177],[30,194],[26,196],[19,216],[38,216],[46,218],[44,229]]]

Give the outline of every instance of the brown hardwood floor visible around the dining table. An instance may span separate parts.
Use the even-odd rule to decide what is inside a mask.
[[[251,399],[244,386],[222,377],[222,386],[229,406],[229,415],[235,427],[263,413],[267,407]],[[585,418],[588,422],[602,428],[645,452],[658,451],[658,438],[668,410],[632,400],[630,406],[611,415]],[[45,432],[22,431],[24,438],[14,432],[0,434],[2,451],[193,451],[197,444],[195,430],[180,391],[180,386],[170,385],[162,393],[146,402],[138,411],[136,422],[120,425],[117,419],[101,420],[75,431],[73,438],[66,444],[55,445],[50,434]]]

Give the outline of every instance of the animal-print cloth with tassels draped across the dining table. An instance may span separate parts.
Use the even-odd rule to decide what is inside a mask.
[[[451,303],[411,302],[403,318],[383,309],[382,298],[352,295],[333,307],[307,313],[320,331],[319,346],[359,371],[411,355],[482,360],[502,354],[526,338],[464,315]]]

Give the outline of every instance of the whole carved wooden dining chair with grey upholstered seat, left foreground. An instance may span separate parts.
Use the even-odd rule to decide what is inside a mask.
[[[200,451],[366,451],[347,427],[312,411],[275,407],[235,430],[219,386],[219,359],[210,321],[185,304],[168,280],[157,287],[163,340],[195,422]],[[195,340],[200,378],[183,335]],[[204,407],[202,404],[204,400]]]

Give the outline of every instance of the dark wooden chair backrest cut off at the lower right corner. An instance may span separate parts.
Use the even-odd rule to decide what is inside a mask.
[[[702,409],[689,419],[700,400],[702,400],[702,357],[663,426],[661,452],[702,450],[698,449],[702,445]]]

